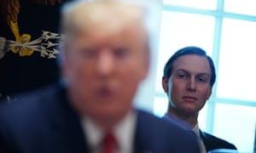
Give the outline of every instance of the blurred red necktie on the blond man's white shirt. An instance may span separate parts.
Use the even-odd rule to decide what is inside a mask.
[[[106,133],[103,137],[103,153],[114,153],[116,150],[116,139],[113,133]]]

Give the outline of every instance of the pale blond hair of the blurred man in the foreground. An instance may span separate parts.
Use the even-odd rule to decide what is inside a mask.
[[[119,31],[143,20],[143,8],[135,4],[115,1],[78,3],[64,16],[64,31],[90,31],[108,26],[109,31]]]

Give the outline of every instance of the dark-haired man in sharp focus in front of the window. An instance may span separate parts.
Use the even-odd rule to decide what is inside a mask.
[[[193,129],[200,139],[201,152],[236,150],[234,144],[203,132],[198,127],[199,111],[210,98],[215,79],[211,57],[205,50],[194,46],[177,50],[166,62],[162,77],[162,87],[169,99],[164,117]]]

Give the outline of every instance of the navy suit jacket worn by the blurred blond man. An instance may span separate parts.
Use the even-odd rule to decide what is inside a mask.
[[[198,153],[191,131],[137,110],[134,151]],[[90,152],[66,89],[47,88],[0,107],[0,152]]]

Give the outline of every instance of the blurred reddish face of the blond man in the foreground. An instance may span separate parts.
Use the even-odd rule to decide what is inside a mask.
[[[139,23],[79,32],[68,44],[63,64],[71,99],[91,117],[130,111],[148,66],[147,35]]]

